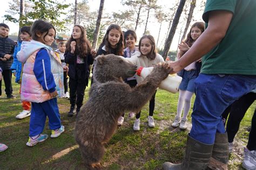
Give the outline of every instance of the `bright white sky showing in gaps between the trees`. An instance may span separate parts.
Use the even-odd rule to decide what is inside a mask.
[[[4,21],[3,16],[7,14],[7,12],[5,12],[5,11],[9,9],[9,3],[8,2],[11,2],[11,1],[12,0],[1,1],[1,10],[0,10],[1,23]],[[61,0],[57,0],[57,1],[63,2]],[[178,0],[169,0],[169,1],[167,1],[167,0],[158,0],[158,4],[161,5],[161,6],[164,6],[165,9],[169,9],[177,1]],[[82,0],[78,0],[78,2],[82,2]],[[75,3],[75,0],[64,0],[63,3]],[[98,8],[99,8],[100,0],[88,0],[88,3],[89,3],[89,6],[90,6],[90,10],[95,11],[95,10],[98,10]],[[199,5],[197,5],[197,6],[199,6]],[[124,6],[120,3],[120,0],[105,0],[103,15],[104,15],[105,12],[112,13],[112,12],[118,12],[118,11],[121,11],[121,10],[124,10]],[[168,12],[168,10],[167,10],[167,12]],[[170,12],[172,12],[172,11],[170,11]],[[199,12],[199,13],[194,12],[194,14],[193,14],[194,21],[202,21],[201,14],[202,14],[201,12]],[[7,21],[4,21],[4,23],[8,24],[8,26],[10,27],[10,34],[18,32],[18,24],[14,24],[14,23],[7,22]],[[191,25],[192,24],[193,23],[191,22]],[[164,45],[168,25],[169,25],[169,23],[165,22],[161,27],[158,46],[163,46]],[[150,33],[154,37],[156,43],[157,43],[159,28],[160,28],[160,24],[157,23],[155,19],[150,18],[149,23],[147,24],[147,30],[150,31]],[[137,28],[136,33],[137,33],[138,39],[143,36],[144,29],[145,29],[145,23],[142,23]],[[72,28],[70,28],[70,33],[71,33],[71,30],[72,30]],[[180,38],[180,30],[183,30],[183,26],[178,25],[178,28],[176,30],[176,33],[173,37],[173,41],[172,41],[172,44],[171,44],[171,49],[170,49],[171,51],[176,51],[177,50],[177,46],[178,46],[178,42],[179,42],[179,38]],[[182,36],[182,34],[183,33],[181,33],[181,36]]]

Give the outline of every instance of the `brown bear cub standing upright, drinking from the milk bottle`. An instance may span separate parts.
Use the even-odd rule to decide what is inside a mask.
[[[104,144],[116,131],[120,115],[125,111],[140,111],[172,71],[167,63],[158,64],[142,83],[131,88],[123,79],[132,77],[136,69],[136,65],[120,56],[106,55],[95,59],[95,83],[90,89],[89,100],[78,114],[75,127],[76,141],[89,169],[100,168]]]

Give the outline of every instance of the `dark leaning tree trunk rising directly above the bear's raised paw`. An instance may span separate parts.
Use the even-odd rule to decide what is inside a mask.
[[[183,7],[185,5],[185,2],[186,2],[186,0],[180,0],[180,2],[179,2],[177,12],[176,12],[175,17],[174,17],[173,22],[172,22],[171,30],[169,32],[168,38],[165,41],[163,57],[166,57],[169,53],[170,46],[172,44],[172,39],[173,39],[173,36],[174,36],[175,31],[177,29],[177,25],[179,23],[179,18],[180,18],[181,12],[183,11]]]

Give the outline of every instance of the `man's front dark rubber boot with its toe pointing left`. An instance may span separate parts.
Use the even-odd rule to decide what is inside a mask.
[[[187,147],[181,164],[165,162],[163,168],[169,170],[206,169],[212,155],[212,145],[203,144],[187,135]]]

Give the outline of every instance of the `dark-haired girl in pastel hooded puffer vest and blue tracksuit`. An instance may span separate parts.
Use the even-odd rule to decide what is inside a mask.
[[[33,40],[22,42],[21,51],[17,53],[17,59],[24,64],[21,99],[32,104],[27,146],[48,138],[47,134],[41,134],[46,116],[52,130],[51,138],[57,138],[64,132],[56,98],[64,94],[63,67],[50,47],[56,30],[52,24],[38,20],[32,25],[31,35]]]

